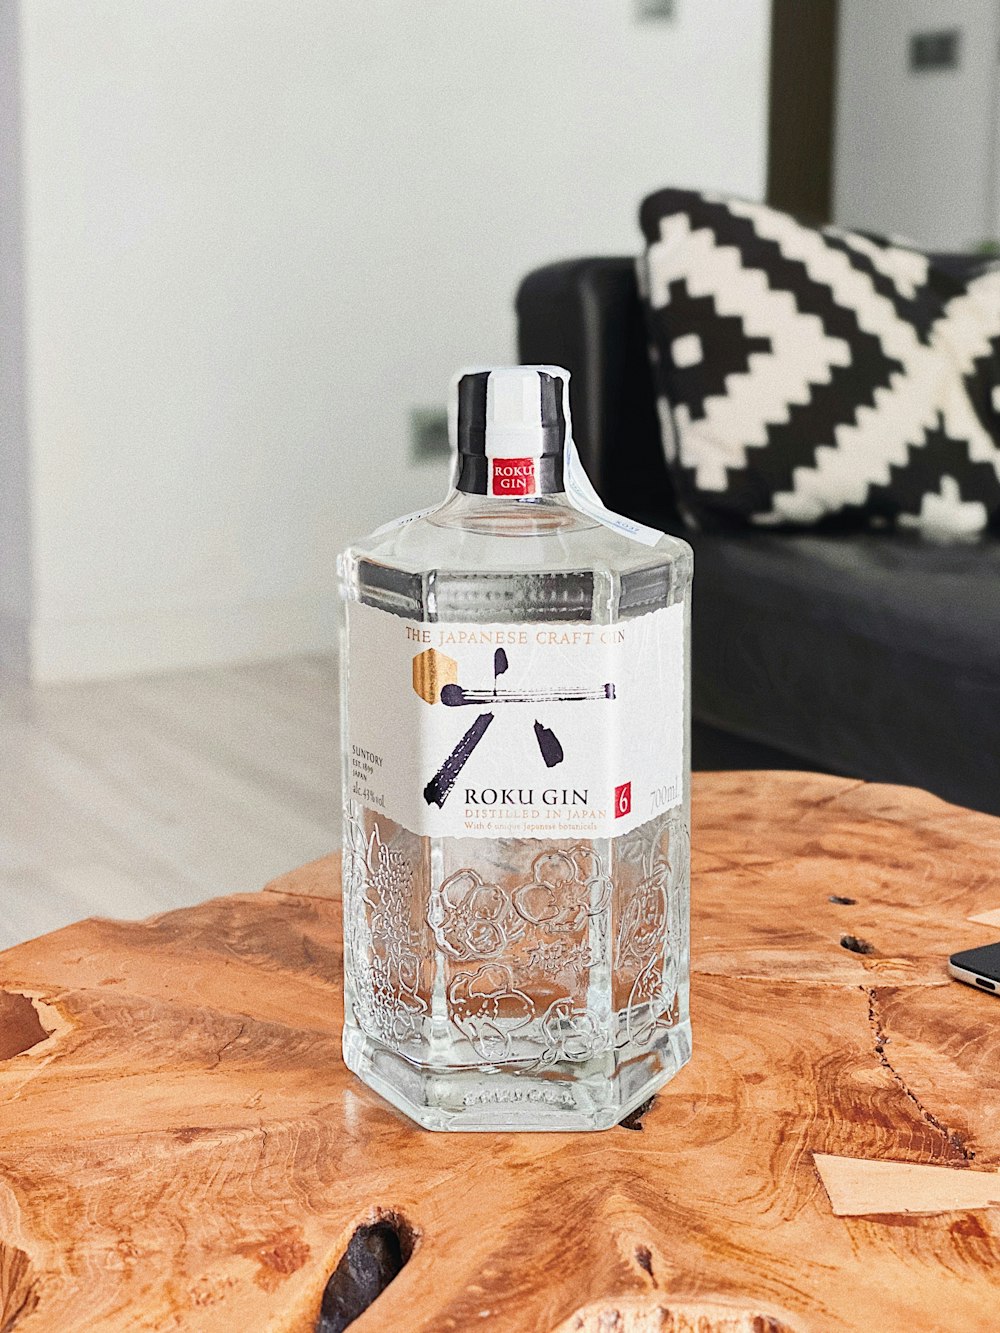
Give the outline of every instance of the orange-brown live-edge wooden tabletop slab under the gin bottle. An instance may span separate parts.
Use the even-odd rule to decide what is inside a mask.
[[[720,773],[693,832],[695,1057],[603,1134],[344,1070],[332,857],[0,956],[0,1330],[343,1328],[352,1236],[409,1256],[357,1333],[996,1328],[1000,1000],[945,957],[1000,933],[1000,820]]]

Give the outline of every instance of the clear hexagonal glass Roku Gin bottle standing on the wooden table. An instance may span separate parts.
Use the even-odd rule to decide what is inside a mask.
[[[692,555],[571,503],[567,384],[463,376],[451,495],[340,560],[344,1057],[428,1129],[604,1129],[691,1054]]]

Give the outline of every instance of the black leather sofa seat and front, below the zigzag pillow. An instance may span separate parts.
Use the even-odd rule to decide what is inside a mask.
[[[692,543],[697,717],[1000,814],[1000,541]]]

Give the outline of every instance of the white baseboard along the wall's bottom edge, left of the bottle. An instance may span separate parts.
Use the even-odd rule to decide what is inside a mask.
[[[139,676],[329,652],[336,593],[135,615],[43,619],[32,625],[36,684]]]

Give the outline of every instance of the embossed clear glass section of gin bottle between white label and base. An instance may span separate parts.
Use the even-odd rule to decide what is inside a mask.
[[[444,1037],[461,1066],[648,1049],[687,984],[688,854],[673,810],[603,845],[511,840],[432,876],[424,840],[365,812],[345,852],[355,1020],[415,1058]]]

